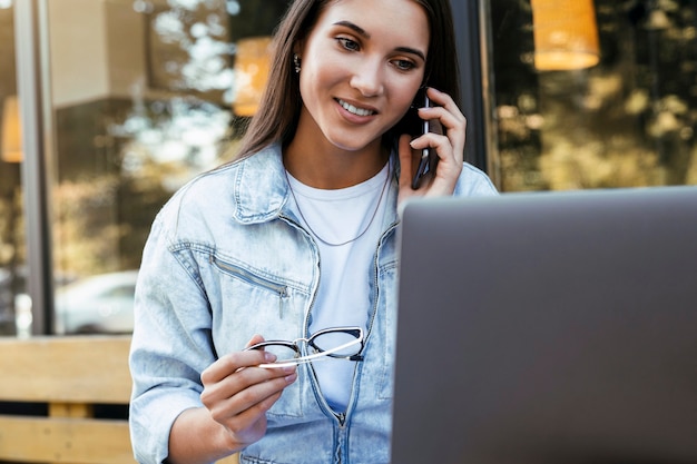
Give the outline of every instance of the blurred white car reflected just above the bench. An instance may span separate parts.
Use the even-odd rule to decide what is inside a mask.
[[[131,333],[137,278],[137,270],[124,270],[86,277],[57,289],[56,333]]]

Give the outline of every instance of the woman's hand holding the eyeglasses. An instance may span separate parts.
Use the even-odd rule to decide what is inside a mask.
[[[264,342],[259,335],[247,346]],[[264,351],[227,354],[200,376],[203,404],[210,417],[229,433],[230,443],[243,448],[266,434],[266,412],[278,401],[283,389],[297,379],[296,367],[261,368],[275,356]]]

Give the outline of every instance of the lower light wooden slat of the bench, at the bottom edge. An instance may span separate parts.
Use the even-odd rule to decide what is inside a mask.
[[[11,462],[132,464],[126,421],[0,415],[0,456]]]

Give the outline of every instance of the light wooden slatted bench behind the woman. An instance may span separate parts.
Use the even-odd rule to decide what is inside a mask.
[[[130,336],[0,337],[0,462],[134,463],[129,346]],[[119,405],[126,415],[96,416]]]

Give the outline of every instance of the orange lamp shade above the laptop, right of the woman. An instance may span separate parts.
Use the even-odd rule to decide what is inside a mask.
[[[534,67],[541,71],[586,69],[600,60],[592,0],[531,0]]]

